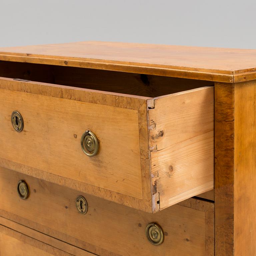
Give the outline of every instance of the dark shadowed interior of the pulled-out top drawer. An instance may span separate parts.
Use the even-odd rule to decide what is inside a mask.
[[[214,85],[203,80],[11,61],[0,61],[0,77],[151,98]]]

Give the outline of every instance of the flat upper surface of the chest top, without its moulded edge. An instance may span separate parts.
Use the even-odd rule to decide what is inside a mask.
[[[71,57],[75,60],[82,58],[105,63],[129,62],[130,65],[140,63],[148,66],[172,66],[181,70],[188,67],[190,70],[219,70],[219,73],[223,74],[226,74],[225,71],[255,68],[253,61],[256,56],[256,50],[93,41],[2,47],[0,53],[20,53],[20,56],[29,57]],[[251,59],[246,59],[248,56]],[[223,59],[227,62],[221,62]],[[245,62],[239,62],[241,60]]]

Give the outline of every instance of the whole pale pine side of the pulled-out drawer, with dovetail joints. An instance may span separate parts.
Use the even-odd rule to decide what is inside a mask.
[[[214,88],[149,100],[153,193],[160,209],[214,188]]]

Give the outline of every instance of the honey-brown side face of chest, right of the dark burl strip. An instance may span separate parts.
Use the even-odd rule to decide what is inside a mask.
[[[256,81],[235,84],[234,255],[256,255]]]

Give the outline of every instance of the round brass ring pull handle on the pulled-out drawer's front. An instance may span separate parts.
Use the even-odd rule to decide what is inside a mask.
[[[91,131],[86,131],[81,137],[81,147],[87,156],[95,156],[99,150],[99,141]]]

